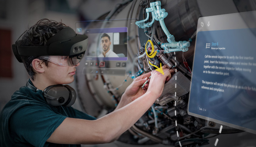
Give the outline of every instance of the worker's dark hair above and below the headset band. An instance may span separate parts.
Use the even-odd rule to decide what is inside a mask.
[[[21,46],[45,46],[46,41],[54,34],[65,28],[66,25],[62,22],[56,22],[49,19],[41,19],[35,25],[31,26],[21,39]],[[22,62],[32,80],[35,79],[35,72],[30,66],[34,59],[40,56],[21,56]],[[42,59],[43,63],[49,67],[49,61]]]

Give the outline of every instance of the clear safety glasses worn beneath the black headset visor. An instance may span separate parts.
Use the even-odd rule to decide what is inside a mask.
[[[84,53],[85,51],[73,56],[40,56],[38,59],[45,59],[61,66],[74,66],[83,59]]]

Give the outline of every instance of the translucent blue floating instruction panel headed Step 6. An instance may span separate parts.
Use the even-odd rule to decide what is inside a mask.
[[[198,20],[188,114],[256,133],[256,26],[246,15]]]

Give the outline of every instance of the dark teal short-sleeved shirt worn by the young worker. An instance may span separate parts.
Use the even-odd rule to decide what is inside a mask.
[[[0,113],[0,145],[2,147],[81,146],[46,142],[67,117],[96,119],[72,107],[50,106],[45,101],[41,90],[34,92],[26,86],[20,87]]]

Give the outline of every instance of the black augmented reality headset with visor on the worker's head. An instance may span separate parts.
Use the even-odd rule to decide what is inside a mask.
[[[46,60],[51,59],[49,56],[68,56],[67,65],[73,66],[82,60],[87,50],[87,38],[86,35],[76,34],[72,28],[66,27],[48,39],[46,46],[20,46],[21,40],[17,40],[15,44],[12,44],[12,51],[21,63],[21,55],[42,56],[41,59]],[[66,66],[65,64],[60,65]]]

